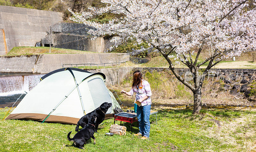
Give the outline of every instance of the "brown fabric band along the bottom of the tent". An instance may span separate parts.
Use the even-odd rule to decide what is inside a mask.
[[[8,117],[5,118],[5,120],[19,119],[19,120],[44,121],[44,119],[46,117],[47,117],[47,114],[23,113],[23,114],[10,114],[10,115],[8,115]],[[111,119],[113,117],[114,117],[114,114],[106,114],[105,115],[105,120],[106,119]],[[77,121],[79,121],[78,118],[50,115],[44,122],[53,122],[53,123],[76,125]]]

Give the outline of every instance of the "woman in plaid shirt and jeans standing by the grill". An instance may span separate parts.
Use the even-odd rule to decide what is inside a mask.
[[[148,139],[150,132],[150,108],[151,108],[151,98],[152,95],[150,85],[148,81],[142,79],[142,73],[140,71],[135,71],[133,73],[132,89],[130,92],[124,90],[121,93],[132,96],[136,93],[136,101],[141,102],[141,106],[137,105],[137,118],[139,121],[139,133],[134,134],[135,136],[142,136],[141,139]]]

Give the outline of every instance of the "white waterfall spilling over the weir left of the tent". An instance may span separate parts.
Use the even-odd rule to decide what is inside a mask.
[[[0,96],[21,94],[24,91],[28,92],[40,82],[39,79],[42,76],[44,74],[0,77]],[[36,83],[34,83],[35,81]]]

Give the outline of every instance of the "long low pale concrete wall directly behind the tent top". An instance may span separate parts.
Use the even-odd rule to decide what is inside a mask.
[[[123,53],[2,56],[0,72],[49,73],[62,68],[62,64],[102,64],[125,61],[129,61],[129,55]]]

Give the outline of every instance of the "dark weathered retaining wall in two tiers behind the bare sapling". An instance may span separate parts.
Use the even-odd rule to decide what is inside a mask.
[[[41,39],[42,46],[53,45],[57,48],[74,49],[90,52],[105,52],[113,44],[110,39],[99,37],[92,39],[87,32],[94,27],[80,23],[57,23],[51,26],[54,34]]]

